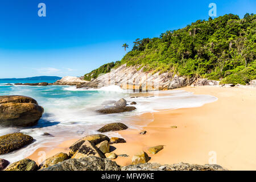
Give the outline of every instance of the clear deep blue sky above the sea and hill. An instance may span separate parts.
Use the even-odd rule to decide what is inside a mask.
[[[255,0],[1,0],[0,78],[82,76],[121,60],[123,43],[208,19],[211,2],[217,16],[256,13]]]

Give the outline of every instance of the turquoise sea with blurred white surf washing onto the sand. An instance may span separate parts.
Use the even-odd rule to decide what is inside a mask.
[[[55,82],[45,81],[45,82]],[[216,97],[208,95],[194,95],[183,90],[168,90],[152,92],[154,97],[130,98],[130,92],[122,90],[119,86],[106,86],[101,89],[76,89],[76,86],[51,85],[51,86],[26,86],[5,85],[15,82],[32,81],[0,81],[0,96],[21,95],[34,98],[40,106],[44,107],[44,114],[38,125],[28,128],[0,127],[0,136],[22,132],[35,139],[34,143],[20,150],[0,158],[10,162],[16,162],[31,155],[39,147],[55,147],[64,140],[80,138],[88,134],[96,134],[97,129],[106,123],[122,122],[132,129],[141,129],[142,126],[134,126],[129,122],[131,117],[147,112],[156,112],[162,109],[179,109],[188,107],[199,107],[217,100]],[[43,82],[33,81],[33,82]],[[161,94],[159,94],[161,93]],[[164,93],[164,94],[163,94]],[[137,110],[118,114],[98,114],[95,108],[102,106],[102,102],[108,100],[117,101],[125,98],[128,104],[137,102]],[[136,118],[136,117],[133,117]],[[148,121],[150,122],[150,121]],[[44,133],[53,135],[44,136]],[[109,137],[120,137],[118,134],[108,134]],[[49,144],[51,143],[51,144]]]

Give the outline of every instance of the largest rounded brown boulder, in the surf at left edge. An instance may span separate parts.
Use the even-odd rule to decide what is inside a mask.
[[[42,117],[43,107],[30,97],[0,96],[1,126],[33,126]]]

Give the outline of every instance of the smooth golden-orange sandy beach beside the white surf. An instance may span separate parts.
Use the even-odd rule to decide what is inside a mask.
[[[147,152],[151,157],[150,163],[216,162],[229,170],[255,170],[256,89],[187,86],[178,90],[207,94],[218,100],[201,107],[140,115],[139,119],[134,119],[134,125],[147,125],[142,129],[147,133],[140,135],[140,130],[132,129],[119,131],[127,143],[113,144],[113,152],[117,155],[127,154],[129,157],[119,156],[114,161],[127,166],[137,152],[147,152],[148,147],[164,145],[164,149],[158,154]],[[148,119],[153,121],[146,123]],[[57,152],[68,153],[68,147],[76,140],[77,138],[63,142],[54,150],[39,148],[28,158],[39,163],[39,151],[46,151],[46,158]]]

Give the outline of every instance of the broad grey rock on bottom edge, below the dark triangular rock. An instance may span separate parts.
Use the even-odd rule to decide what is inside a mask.
[[[120,171],[120,166],[109,159],[88,156],[81,159],[64,160],[40,171]]]

